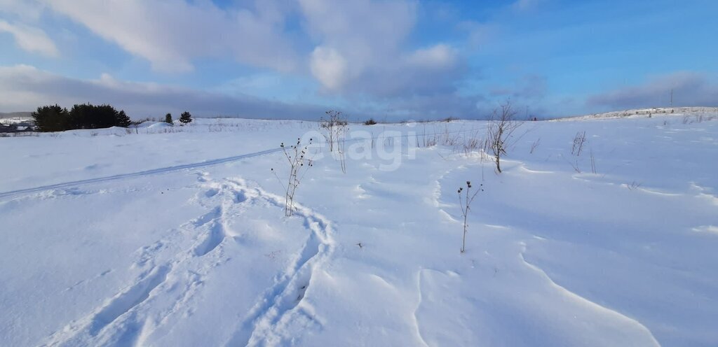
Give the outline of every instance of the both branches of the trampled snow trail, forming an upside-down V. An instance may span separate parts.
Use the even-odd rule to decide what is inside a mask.
[[[236,241],[228,221],[242,214],[238,207],[264,201],[276,208],[276,214],[283,213],[284,198],[241,179],[216,182],[202,174],[198,181],[205,189],[200,204],[215,206],[180,226],[169,239],[141,247],[131,266],[142,270],[136,280],[92,313],[53,333],[45,346],[142,346],[158,328],[171,330],[169,325],[177,322],[169,317],[191,314],[195,309],[188,305],[192,296],[215,267],[230,260],[223,246]],[[332,252],[332,229],[325,217],[299,204],[290,218],[302,219],[309,235],[294,252],[291,265],[275,276],[274,285],[264,290],[248,313],[239,313],[244,318],[232,333],[229,346],[274,345],[290,338],[290,325],[304,322],[307,326],[314,320],[304,298],[312,273]],[[188,248],[182,249],[182,244]],[[167,253],[169,261],[163,260]],[[296,333],[292,331],[291,338],[297,338]]]

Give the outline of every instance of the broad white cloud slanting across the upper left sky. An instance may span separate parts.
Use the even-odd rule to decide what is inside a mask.
[[[225,56],[281,71],[295,67],[297,55],[283,35],[284,13],[274,0],[257,0],[254,9],[220,9],[208,0],[44,1],[149,60],[154,70],[185,72],[197,57]]]

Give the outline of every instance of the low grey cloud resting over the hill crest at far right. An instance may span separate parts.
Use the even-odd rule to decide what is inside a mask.
[[[696,72],[675,72],[642,85],[592,95],[586,104],[613,110],[667,107],[671,90],[674,106],[718,106],[718,85]]]

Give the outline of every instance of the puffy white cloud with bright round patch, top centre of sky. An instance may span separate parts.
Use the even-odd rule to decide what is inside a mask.
[[[411,49],[417,17],[409,0],[299,0],[309,35],[312,75],[326,91],[380,98],[454,92],[462,70],[457,49],[434,44]]]

